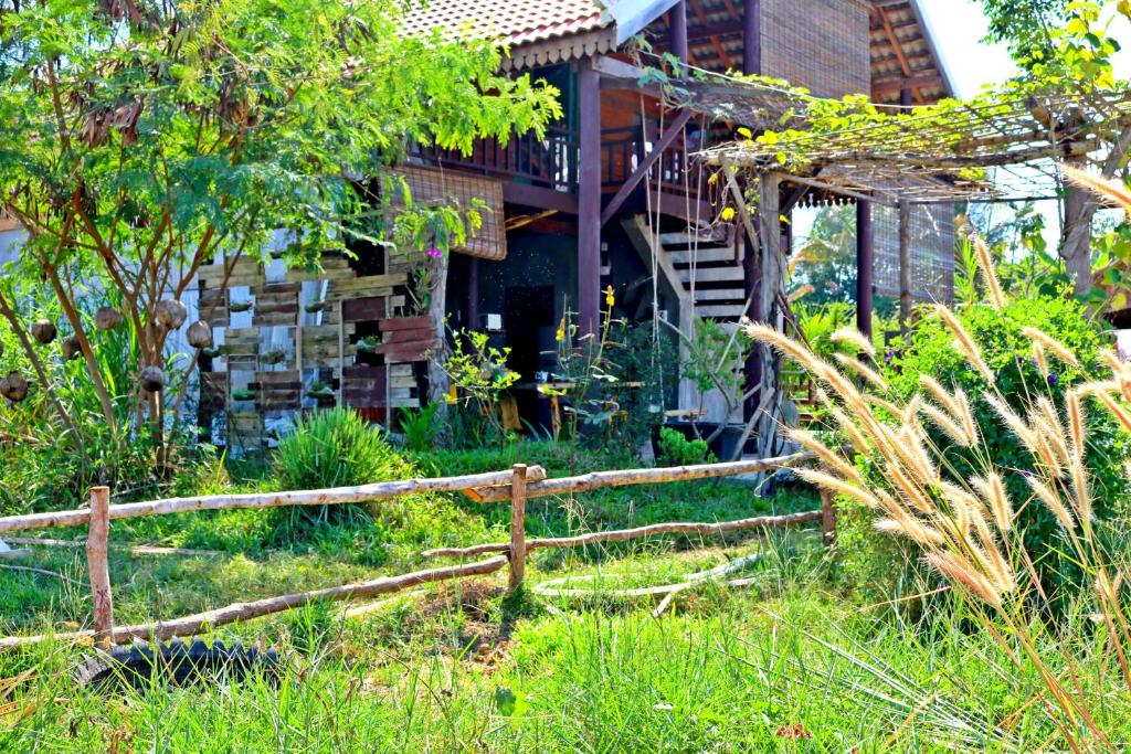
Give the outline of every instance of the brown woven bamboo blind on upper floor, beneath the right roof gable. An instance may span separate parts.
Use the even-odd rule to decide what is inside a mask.
[[[762,73],[822,97],[870,92],[867,10],[861,0],[762,0]]]

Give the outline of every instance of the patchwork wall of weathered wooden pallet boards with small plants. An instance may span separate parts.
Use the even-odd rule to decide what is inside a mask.
[[[260,450],[303,410],[349,406],[388,422],[418,407],[439,344],[428,318],[404,315],[408,279],[407,262],[391,257],[380,275],[357,275],[343,257],[310,271],[252,259],[201,268],[199,311],[214,346],[201,359],[199,410],[214,441]]]

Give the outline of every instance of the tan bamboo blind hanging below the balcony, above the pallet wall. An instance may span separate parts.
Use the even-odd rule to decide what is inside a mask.
[[[418,165],[403,165],[392,172],[405,177],[416,203],[450,203],[456,200],[464,209],[476,199],[485,203],[486,208],[480,210],[483,226],[474,233],[469,231],[467,244],[454,251],[491,261],[507,258],[502,183],[482,175]]]

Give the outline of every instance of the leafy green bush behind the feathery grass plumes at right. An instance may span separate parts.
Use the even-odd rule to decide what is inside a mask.
[[[968,306],[960,314],[962,324],[979,344],[982,356],[994,372],[998,389],[1010,407],[1025,415],[1035,396],[1045,395],[1056,406],[1072,388],[1087,382],[1111,379],[1111,370],[1100,359],[1104,339],[1089,323],[1083,307],[1063,298],[1041,297],[1010,301],[1003,311],[990,306]],[[1063,343],[1080,361],[1080,369],[1048,357],[1050,375],[1046,379],[1033,356],[1033,339],[1022,332],[1030,327],[1043,330]],[[974,419],[981,428],[985,451],[993,463],[1003,469],[1008,492],[1020,503],[1033,493],[1026,475],[1033,474],[1034,459],[1002,425],[990,404],[984,399],[987,385],[969,362],[953,347],[955,335],[936,317],[920,323],[910,347],[901,355],[893,354],[884,376],[892,395],[906,400],[921,391],[920,375],[934,376],[946,388],[960,388],[972,401]],[[1088,447],[1085,463],[1093,474],[1095,519],[1097,531],[1103,534],[1104,522],[1111,521],[1129,497],[1129,483],[1123,461],[1129,449],[1128,436],[1121,432],[1111,414],[1096,405],[1088,415]],[[955,445],[933,425],[932,440],[946,448],[947,462],[960,478],[979,473],[984,459],[977,457],[981,448],[966,450]],[[1046,505],[1025,505],[1018,518],[1025,531],[1026,548],[1036,555],[1042,582],[1055,593],[1057,587],[1073,580],[1077,570],[1065,552],[1062,529]]]

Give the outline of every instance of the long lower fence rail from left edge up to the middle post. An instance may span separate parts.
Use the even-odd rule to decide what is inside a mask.
[[[509,471],[508,471],[509,474]],[[329,587],[312,591],[301,591],[282,597],[268,597],[252,603],[236,603],[215,610],[198,613],[183,618],[167,622],[145,623],[138,625],[119,626],[110,634],[111,640],[116,643],[126,643],[133,639],[164,640],[173,636],[191,636],[205,633],[217,626],[235,623],[236,621],[249,621],[251,618],[273,615],[284,610],[302,607],[314,601],[330,600],[342,601],[352,599],[363,599],[377,595],[387,595],[400,591],[421,583],[434,581],[448,581],[472,575],[485,575],[494,573],[507,565],[507,558],[499,556],[478,563],[457,565],[429,571],[415,571],[397,577],[385,577],[372,581],[344,584],[342,587]],[[36,636],[6,636],[0,639],[0,650],[26,647],[36,642],[54,639],[55,641],[80,641],[95,635],[93,631],[74,631],[59,634],[41,634]]]

